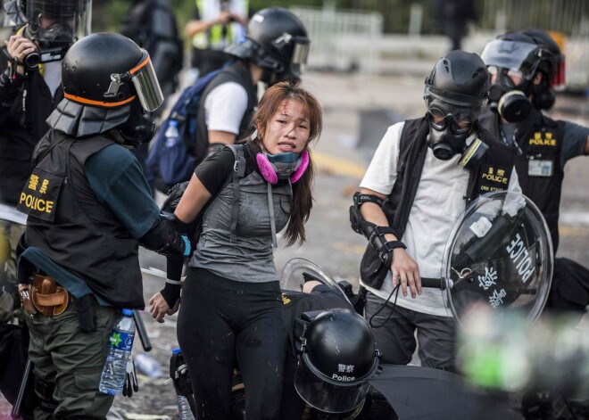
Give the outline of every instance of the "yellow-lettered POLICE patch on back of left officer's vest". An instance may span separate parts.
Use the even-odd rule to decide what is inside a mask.
[[[16,208],[29,217],[53,222],[64,177],[36,168],[22,190]]]

